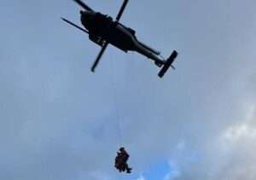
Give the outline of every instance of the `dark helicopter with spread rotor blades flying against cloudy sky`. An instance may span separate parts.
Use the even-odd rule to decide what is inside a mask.
[[[128,51],[136,51],[137,53],[148,57],[148,59],[154,61],[154,64],[157,67],[160,67],[160,72],[158,73],[160,78],[165,75],[169,67],[175,69],[175,67],[172,66],[172,63],[178,55],[176,50],[172,51],[169,58],[164,59],[160,55],[160,51],[150,48],[148,45],[140,42],[136,37],[135,30],[119,22],[129,0],[124,0],[115,20],[113,20],[111,16],[102,15],[102,13],[96,12],[81,0],[73,0],[73,2],[78,3],[83,9],[80,10],[80,20],[85,29],[63,17],[61,17],[61,19],[69,25],[89,34],[90,41],[98,44],[102,48],[96,56],[96,61],[94,61],[90,68],[91,72],[95,72],[108,44],[112,44],[114,47],[123,50],[125,53]]]

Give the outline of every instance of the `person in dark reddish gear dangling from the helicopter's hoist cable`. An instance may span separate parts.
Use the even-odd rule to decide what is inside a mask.
[[[125,148],[119,148],[117,156],[115,158],[115,167],[121,172],[126,171],[126,173],[131,173],[131,167],[127,164],[127,160],[130,155],[125,151]]]

